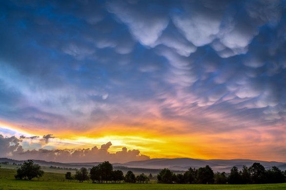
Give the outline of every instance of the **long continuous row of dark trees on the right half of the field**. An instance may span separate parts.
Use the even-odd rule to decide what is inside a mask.
[[[249,168],[243,166],[239,171],[236,166],[230,173],[216,172],[206,165],[199,169],[189,168],[184,173],[175,174],[169,169],[163,169],[157,175],[158,183],[167,184],[266,184],[285,183],[286,171],[276,166],[266,170],[260,163],[253,163]]]

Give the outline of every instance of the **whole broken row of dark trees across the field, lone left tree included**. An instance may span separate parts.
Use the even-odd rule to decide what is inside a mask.
[[[35,164],[32,160],[24,161],[17,170],[16,179],[31,180],[39,178],[44,174],[41,166]],[[65,179],[78,180],[80,183],[91,180],[92,183],[147,183],[153,178],[150,173],[149,177],[144,173],[135,176],[132,171],[127,171],[125,176],[123,171],[113,170],[112,164],[108,161],[93,166],[90,171],[86,168],[77,170],[74,175],[70,171],[65,173]],[[158,183],[166,184],[265,184],[265,183],[285,183],[286,171],[281,171],[276,166],[266,170],[260,163],[253,163],[249,168],[243,166],[239,171],[236,166],[232,167],[230,173],[216,172],[206,165],[199,169],[189,168],[184,173],[175,174],[169,169],[163,169],[157,175]]]

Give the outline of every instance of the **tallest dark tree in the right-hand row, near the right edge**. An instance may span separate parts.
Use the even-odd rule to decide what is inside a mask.
[[[260,163],[253,163],[252,166],[249,167],[249,171],[252,183],[261,184],[266,181],[265,168]]]

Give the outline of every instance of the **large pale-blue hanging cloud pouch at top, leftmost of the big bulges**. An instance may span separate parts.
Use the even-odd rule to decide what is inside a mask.
[[[112,1],[108,3],[108,10],[127,24],[131,34],[143,45],[154,46],[168,25],[164,7],[155,6],[153,3],[143,1],[137,3]],[[149,14],[146,15],[146,11]]]

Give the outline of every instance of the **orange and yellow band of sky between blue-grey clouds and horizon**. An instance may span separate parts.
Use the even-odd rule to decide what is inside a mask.
[[[23,130],[20,127],[0,123],[0,128],[15,132],[16,136],[43,135],[48,131]],[[119,131],[117,129],[120,129]],[[181,129],[183,130],[183,129]],[[184,130],[183,130],[184,131]],[[52,133],[52,132],[50,132]],[[128,150],[139,150],[141,154],[151,158],[200,158],[200,159],[256,159],[266,161],[283,161],[279,153],[267,154],[271,152],[272,142],[275,136],[266,135],[263,129],[257,133],[256,130],[247,130],[242,133],[239,129],[230,133],[204,134],[204,133],[166,133],[140,130],[138,128],[124,129],[120,127],[105,127],[104,130],[95,132],[57,132],[53,133],[56,138],[50,139],[48,144],[42,147],[52,147],[54,149],[82,149],[93,146],[100,147],[102,144],[112,142],[109,152],[115,153],[123,147]],[[7,134],[9,135],[9,134]],[[258,142],[252,145],[253,139]],[[34,140],[33,143],[37,143]],[[282,144],[279,146],[283,146]],[[34,147],[24,147],[33,149]],[[267,155],[267,156],[266,156]]]

